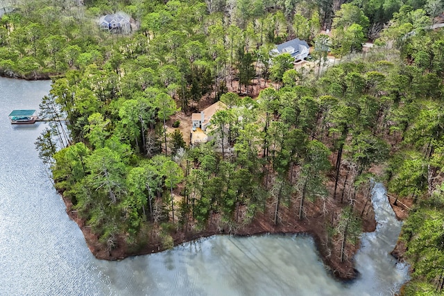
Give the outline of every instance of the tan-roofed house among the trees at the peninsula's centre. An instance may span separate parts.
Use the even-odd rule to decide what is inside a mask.
[[[212,116],[219,110],[225,109],[225,104],[218,101],[207,107],[200,113],[191,114],[191,145],[195,143],[205,143],[208,141],[207,128],[210,125]]]

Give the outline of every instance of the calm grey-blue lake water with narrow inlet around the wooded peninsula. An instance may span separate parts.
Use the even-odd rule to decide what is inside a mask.
[[[65,213],[34,141],[44,123],[13,126],[38,109],[50,82],[0,78],[0,295],[393,295],[407,267],[389,252],[400,232],[377,185],[377,231],[364,234],[360,277],[334,280],[307,236],[212,236],[171,251],[99,261]]]

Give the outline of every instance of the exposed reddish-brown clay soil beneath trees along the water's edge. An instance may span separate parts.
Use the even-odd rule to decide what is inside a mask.
[[[77,212],[72,210],[72,203],[66,198],[63,198],[63,200],[67,206],[67,214],[78,224],[85,236],[89,250],[97,259],[118,260],[128,256],[151,254],[164,250],[161,241],[155,235],[150,238],[149,243],[142,247],[142,250],[128,250],[128,245],[123,237],[117,238],[117,247],[108,250],[105,245],[99,243],[99,237],[93,234],[91,229],[85,225],[85,220],[79,218]],[[219,225],[219,219],[214,215],[213,218],[210,219],[207,229],[202,232],[177,231],[173,232],[171,236],[173,237],[174,245],[178,245],[196,238],[212,236],[214,234],[234,234],[239,236],[252,236],[257,234],[310,234],[316,241],[318,252],[327,268],[332,272],[332,275],[343,280],[353,279],[357,276],[353,258],[357,250],[359,250],[359,243],[355,245],[347,243],[345,245],[345,256],[341,263],[339,259],[341,245],[339,238],[330,238],[327,243],[325,232],[325,225],[327,225],[327,222],[338,218],[343,204],[341,204],[339,198],[337,198],[337,200],[328,200],[328,212],[325,214],[321,211],[322,205],[320,200],[316,203],[307,201],[305,203],[306,218],[302,220],[298,220],[297,218],[298,204],[289,204],[287,207],[282,205],[280,209],[280,223],[274,225],[273,213],[275,206],[270,203],[265,211],[258,213],[251,223],[240,226],[237,229],[224,229],[223,227],[217,226]],[[371,207],[371,202],[368,202],[368,197],[357,195],[355,213],[362,214],[364,232],[372,232],[375,230],[375,214],[373,207]]]

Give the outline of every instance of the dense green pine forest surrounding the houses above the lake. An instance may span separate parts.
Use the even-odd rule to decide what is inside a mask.
[[[37,150],[103,250],[164,250],[262,217],[295,232],[316,220],[324,256],[350,263],[382,180],[413,204],[404,293],[443,293],[444,34],[430,29],[441,1],[12,4],[0,72],[53,80],[41,116],[67,124],[53,121]],[[117,11],[130,35],[99,28]],[[314,67],[270,55],[293,37],[313,46]],[[189,146],[176,115],[216,101],[212,140]]]

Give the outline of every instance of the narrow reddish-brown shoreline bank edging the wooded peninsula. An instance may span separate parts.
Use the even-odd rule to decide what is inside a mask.
[[[60,194],[60,193],[59,193]],[[125,238],[118,238],[118,247],[113,250],[107,250],[107,248],[99,243],[99,237],[91,232],[91,229],[85,225],[85,219],[78,217],[76,211],[72,210],[72,203],[70,200],[65,198],[60,194],[62,200],[66,205],[66,212],[74,222],[77,223],[80,230],[83,232],[85,237],[85,243],[89,248],[89,251],[96,257],[96,259],[116,261],[126,259],[130,256],[140,256],[146,254],[153,254],[155,252],[162,252],[168,250],[168,248],[162,245],[162,241],[157,237],[153,238],[149,243],[146,243],[139,250],[131,250],[128,244],[125,242]],[[373,207],[370,207],[371,211],[368,211],[366,216],[363,218],[363,232],[373,232],[376,229],[375,214],[373,212]],[[291,207],[289,209],[282,210],[282,216],[289,217],[292,214]],[[291,215],[294,216],[294,215]],[[296,219],[296,218],[295,218]],[[282,219],[284,220],[284,219]],[[264,234],[273,235],[309,235],[314,239],[316,246],[316,252],[318,256],[323,261],[327,272],[332,275],[335,279],[340,281],[350,281],[355,279],[359,272],[355,269],[355,254],[361,247],[361,242],[358,241],[355,245],[348,243],[345,247],[345,260],[341,263],[339,261],[339,250],[336,243],[332,242],[328,244],[330,248],[325,243],[325,217],[315,216],[305,218],[305,220],[291,221],[296,223],[280,223],[279,225],[273,225],[271,220],[268,218],[266,211],[264,213],[258,213],[248,225],[239,227],[233,232],[225,232],[225,229],[218,229],[214,224],[207,227],[201,232],[184,232],[176,231],[171,234],[174,242],[174,247],[180,245],[181,243],[187,243],[189,241],[195,241],[199,238],[206,238],[214,235],[227,235],[231,234],[234,236],[259,236]]]

